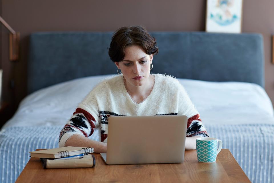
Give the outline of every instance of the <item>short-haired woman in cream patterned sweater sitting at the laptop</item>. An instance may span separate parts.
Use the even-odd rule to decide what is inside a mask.
[[[143,27],[118,29],[108,54],[119,75],[96,85],[79,104],[60,132],[59,146],[94,147],[96,153],[106,152],[110,116],[178,114],[188,116],[185,148],[196,149],[196,138],[207,137],[206,129],[177,79],[150,74],[157,53],[155,38]],[[100,134],[101,142],[87,138],[93,133]]]

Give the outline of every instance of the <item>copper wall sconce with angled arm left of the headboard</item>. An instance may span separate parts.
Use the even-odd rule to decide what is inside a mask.
[[[9,30],[9,59],[12,61],[19,59],[19,39],[20,33],[15,32],[7,22],[0,17],[0,22]]]

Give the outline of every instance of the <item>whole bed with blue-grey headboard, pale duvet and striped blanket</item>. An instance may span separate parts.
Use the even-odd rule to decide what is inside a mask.
[[[274,113],[264,90],[262,36],[151,34],[159,47],[152,73],[179,79],[209,136],[223,141],[251,182],[273,182]],[[29,151],[58,147],[59,132],[78,103],[96,83],[117,72],[108,57],[111,36],[112,32],[31,34],[29,95],[1,128],[0,182],[15,182]]]

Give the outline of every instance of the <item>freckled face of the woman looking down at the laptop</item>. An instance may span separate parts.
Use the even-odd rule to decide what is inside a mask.
[[[115,64],[121,69],[127,85],[142,86],[149,83],[152,59],[153,55],[146,54],[140,46],[132,45],[125,48],[124,60]]]

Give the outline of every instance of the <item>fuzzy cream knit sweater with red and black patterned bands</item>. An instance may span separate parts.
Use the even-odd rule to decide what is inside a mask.
[[[179,81],[162,74],[153,75],[154,87],[150,95],[139,104],[133,102],[126,91],[123,75],[106,79],[96,85],[61,130],[59,146],[65,146],[65,142],[73,134],[89,137],[96,128],[100,128],[96,132],[100,133],[101,142],[107,142],[110,116],[186,115],[187,137],[207,137],[200,115]]]

